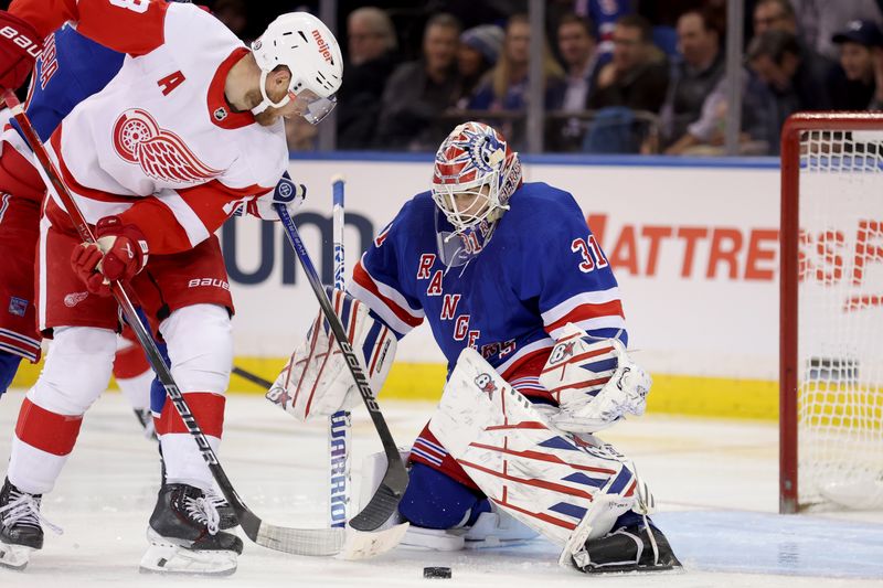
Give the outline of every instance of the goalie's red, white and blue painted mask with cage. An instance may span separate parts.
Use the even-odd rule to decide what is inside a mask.
[[[521,161],[502,135],[482,122],[457,126],[438,148],[433,200],[454,226],[464,253],[481,250],[521,185]]]

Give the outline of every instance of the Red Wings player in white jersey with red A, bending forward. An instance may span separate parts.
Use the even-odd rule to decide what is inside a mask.
[[[233,301],[213,233],[243,203],[275,218],[273,189],[288,164],[281,117],[321,120],[342,72],[334,38],[306,13],[280,15],[249,50],[192,4],[15,0],[0,12],[0,87],[21,83],[34,40],[64,21],[128,56],[46,145],[98,245],[79,243],[51,193],[41,218],[38,319],[54,341],[22,404],[0,490],[0,565],[19,568],[42,547],[41,496],[107,386],[118,329],[107,280],[128,280],[138,295],[217,451]],[[141,569],[233,573],[242,542],[219,530],[205,493],[211,473],[194,440],[171,403],[155,423],[167,472]]]

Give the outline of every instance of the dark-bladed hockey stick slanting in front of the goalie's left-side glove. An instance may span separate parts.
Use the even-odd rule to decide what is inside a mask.
[[[350,520],[350,526],[357,531],[374,531],[385,523],[398,507],[398,502],[402,500],[402,495],[407,488],[407,471],[405,470],[404,463],[402,463],[402,458],[398,456],[398,449],[395,447],[395,441],[393,440],[392,434],[390,434],[390,428],[383,419],[383,414],[380,411],[380,406],[377,406],[377,402],[374,399],[374,395],[371,392],[371,385],[368,383],[364,370],[359,363],[359,357],[352,351],[350,340],[347,339],[347,332],[343,330],[343,325],[340,324],[340,319],[334,313],[334,309],[331,307],[331,302],[325,293],[322,282],[319,280],[319,275],[316,272],[316,268],[310,260],[307,247],[300,239],[297,226],[288,214],[288,209],[285,207],[285,204],[276,204],[276,212],[283,222],[288,242],[291,244],[297,258],[300,260],[300,265],[304,267],[304,274],[307,275],[312,291],[317,300],[319,300],[322,313],[331,325],[331,332],[334,334],[338,346],[347,359],[347,367],[349,367],[355,381],[355,385],[359,387],[362,400],[364,400],[365,407],[368,407],[368,414],[371,415],[371,420],[374,423],[374,428],[377,430],[380,440],[383,443],[383,451],[386,453],[386,473],[383,475],[380,487],[377,487],[376,492],[371,498],[368,505],[362,509],[362,512]]]

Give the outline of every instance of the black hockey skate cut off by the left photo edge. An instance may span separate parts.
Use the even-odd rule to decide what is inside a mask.
[[[0,490],[0,566],[24,569],[31,552],[43,548],[43,527],[61,530],[40,514],[40,494],[15,488],[9,479]]]

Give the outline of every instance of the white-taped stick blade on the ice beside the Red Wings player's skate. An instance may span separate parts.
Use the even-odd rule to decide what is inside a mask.
[[[277,552],[292,555],[330,556],[343,549],[343,528],[289,528],[265,523],[251,512],[240,516],[240,526],[249,539]]]

